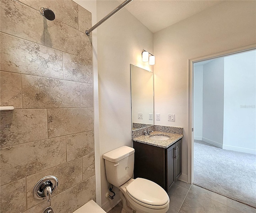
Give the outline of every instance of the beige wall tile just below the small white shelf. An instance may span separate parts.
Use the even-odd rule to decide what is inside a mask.
[[[47,138],[46,109],[1,111],[1,147]]]

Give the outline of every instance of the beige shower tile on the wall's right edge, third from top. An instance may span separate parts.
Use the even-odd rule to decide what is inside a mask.
[[[68,53],[63,53],[64,79],[93,83],[92,61]]]

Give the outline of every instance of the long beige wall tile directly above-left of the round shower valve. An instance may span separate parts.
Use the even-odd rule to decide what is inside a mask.
[[[57,137],[1,149],[1,185],[65,163],[65,143]]]

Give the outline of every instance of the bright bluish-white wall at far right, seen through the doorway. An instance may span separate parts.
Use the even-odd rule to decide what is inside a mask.
[[[223,148],[256,153],[256,51],[225,57]]]

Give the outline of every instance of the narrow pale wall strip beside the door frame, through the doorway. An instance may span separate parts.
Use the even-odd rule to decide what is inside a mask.
[[[203,137],[203,65],[194,66],[194,139]]]

